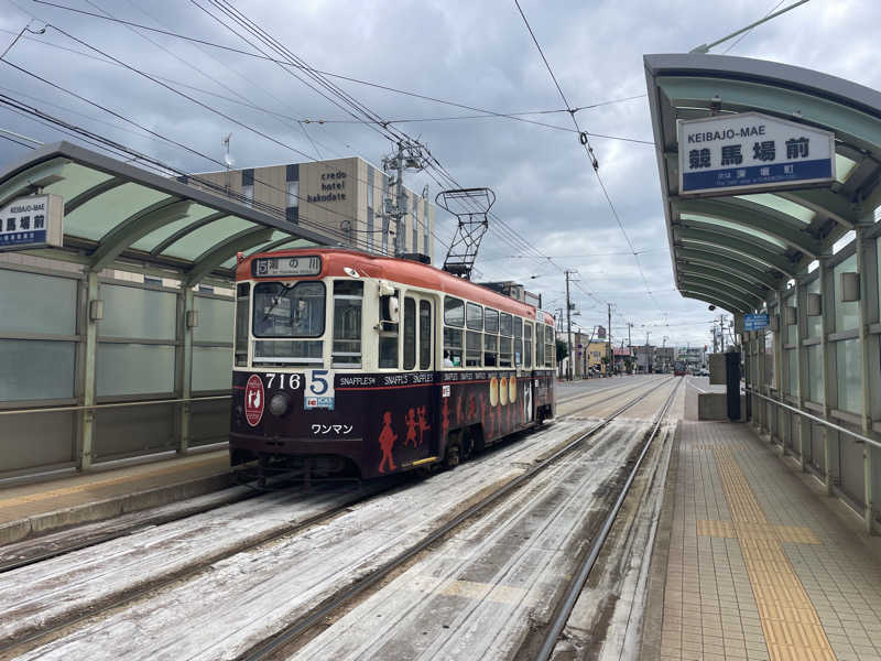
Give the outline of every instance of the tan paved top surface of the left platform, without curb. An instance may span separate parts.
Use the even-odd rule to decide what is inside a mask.
[[[183,483],[197,483],[229,472],[229,452],[219,449],[0,487],[0,524]]]

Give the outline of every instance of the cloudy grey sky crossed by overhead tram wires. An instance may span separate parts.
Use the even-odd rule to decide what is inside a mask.
[[[209,0],[57,1],[252,52],[210,15],[230,22]],[[633,344],[642,344],[646,333],[652,344],[665,337],[667,345],[709,342],[713,314],[706,304],[683,299],[673,284],[653,147],[640,142],[652,139],[642,55],[687,52],[765,15],[776,1],[521,0],[570,106],[587,107],[577,113],[581,128],[635,140],[596,137],[592,145],[621,224],[640,253],[645,282],[568,116],[558,112],[563,101],[513,0],[232,4],[324,72],[496,112],[542,112],[522,117],[558,128],[507,118],[455,119],[475,112],[335,79],[378,116],[399,120],[393,126],[424,142],[460,185],[496,192],[493,210],[503,225],[493,223],[481,246],[482,278],[524,282],[554,310],[565,301],[562,270],[574,269],[580,280],[573,285],[580,326],[605,325],[610,302],[614,338],[632,323]],[[811,0],[713,52],[730,48],[730,55],[815,68],[878,89],[880,18],[881,6],[873,0]],[[34,30],[51,26],[20,40],[6,61],[214,159],[222,159],[221,137],[229,132],[239,167],[303,161],[302,152],[323,159],[357,154],[379,163],[391,149],[380,131],[348,122],[350,116],[274,63],[33,0],[0,0],[0,52],[32,19]],[[93,48],[161,77],[244,126],[109,63]],[[0,62],[0,93],[181,170],[217,169],[30,74]],[[297,121],[305,119],[325,123]],[[66,138],[2,106],[0,128],[45,142]],[[0,167],[26,151],[0,140]],[[439,189],[435,181],[424,174],[407,178],[416,191],[426,183],[433,197]],[[454,227],[438,212],[436,235],[448,241]],[[525,249],[524,241],[545,259]],[[435,259],[443,261],[444,252],[437,246]]]

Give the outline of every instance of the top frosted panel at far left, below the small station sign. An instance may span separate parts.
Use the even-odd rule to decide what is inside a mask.
[[[2,333],[76,335],[76,281],[0,270]]]

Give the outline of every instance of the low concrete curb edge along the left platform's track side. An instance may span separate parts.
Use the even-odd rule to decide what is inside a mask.
[[[177,500],[204,496],[219,491],[236,484],[235,474],[230,472],[209,475],[198,479],[175,483],[153,489],[144,489],[95,502],[86,502],[74,507],[44,512],[0,523],[0,545],[46,534],[80,523],[91,523],[101,519],[110,519],[129,512],[151,507],[168,505]]]

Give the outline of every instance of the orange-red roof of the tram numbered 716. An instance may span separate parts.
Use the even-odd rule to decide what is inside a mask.
[[[401,284],[435,290],[510,314],[526,318],[537,318],[537,321],[545,324],[554,324],[553,316],[547,312],[537,311],[535,306],[529,303],[505,296],[468,280],[463,280],[431,264],[345,248],[300,248],[272,251],[273,257],[306,254],[320,256],[322,278],[348,278],[350,275],[346,273],[345,269],[349,268],[377,280],[389,280]],[[253,279],[253,275],[251,275],[251,262],[259,257],[265,256],[254,252],[239,263],[236,272],[238,280]],[[287,278],[276,278],[275,280],[287,280]]]

